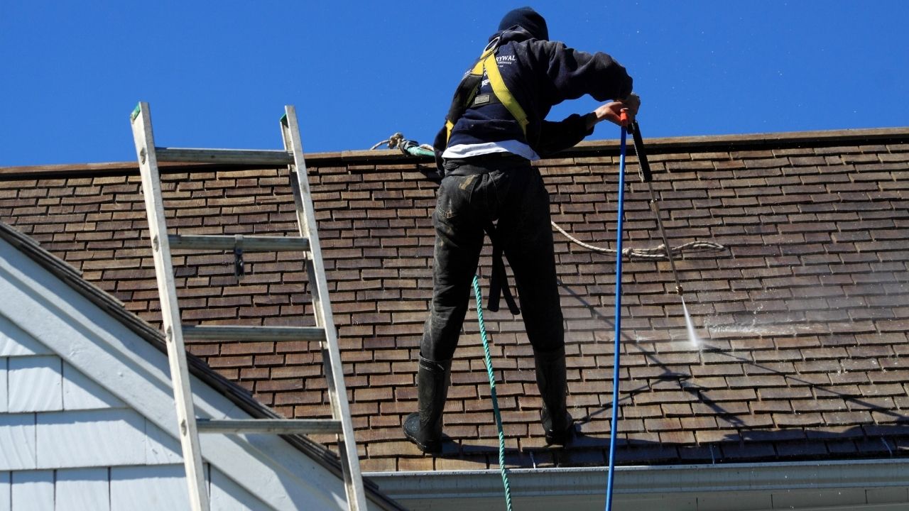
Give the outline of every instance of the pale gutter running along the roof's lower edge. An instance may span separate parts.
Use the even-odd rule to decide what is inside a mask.
[[[605,466],[579,468],[515,468],[508,472],[512,496],[533,499],[541,508],[565,502],[566,497],[605,498]],[[760,492],[785,493],[804,490],[817,495],[824,489],[864,493],[870,488],[906,488],[909,486],[909,459],[865,459],[844,461],[811,461],[779,463],[746,463],[719,465],[619,466],[616,467],[614,495],[624,500],[642,496],[692,496]],[[432,499],[432,509],[445,498],[456,499],[459,508],[469,506],[471,499],[502,500],[504,490],[496,470],[454,470],[418,472],[372,472],[368,476],[380,490],[405,506],[420,509],[419,502]],[[898,492],[897,492],[898,493]],[[909,500],[909,493],[903,490]],[[546,499],[552,498],[551,502]],[[548,502],[548,504],[547,504]],[[746,504],[746,503],[743,503]],[[752,503],[753,504],[753,503]],[[817,502],[813,505],[822,505]],[[554,507],[552,507],[554,508]],[[733,503],[726,509],[734,509]],[[754,507],[747,507],[754,509]],[[760,508],[760,507],[759,507]],[[796,507],[798,508],[798,507]]]

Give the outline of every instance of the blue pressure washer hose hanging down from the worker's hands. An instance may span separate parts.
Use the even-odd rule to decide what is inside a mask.
[[[627,123],[628,118],[622,111],[622,120]],[[624,156],[625,138],[627,130],[622,125],[622,142],[619,153],[619,204],[618,220],[615,242],[615,347],[613,360],[613,417],[609,425],[609,475],[606,478],[606,511],[613,508],[613,479],[615,476],[615,437],[618,433],[619,420],[619,356],[622,346],[619,343],[622,332],[622,217],[624,216]]]

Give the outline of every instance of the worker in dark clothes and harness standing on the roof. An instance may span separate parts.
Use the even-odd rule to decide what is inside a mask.
[[[603,53],[588,54],[549,41],[546,22],[530,7],[510,11],[489,39],[480,60],[454,94],[445,127],[435,138],[445,177],[433,215],[433,301],[420,345],[416,384],[418,411],[405,419],[405,436],[422,451],[442,449],[442,410],[483,246],[494,247],[490,310],[498,291],[516,314],[501,254],[507,257],[534,348],[536,383],[543,397],[541,420],[547,444],[574,436],[565,406],[564,326],[555,275],[549,195],[530,162],[571,147],[603,120],[632,118],[640,99],[622,65]],[[553,105],[589,94],[609,103],[587,115],[545,121]]]

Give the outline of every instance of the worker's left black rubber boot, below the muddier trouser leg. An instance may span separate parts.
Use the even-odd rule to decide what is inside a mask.
[[[416,375],[417,412],[404,421],[404,434],[425,453],[442,451],[442,410],[451,383],[451,359],[434,361],[420,356]]]

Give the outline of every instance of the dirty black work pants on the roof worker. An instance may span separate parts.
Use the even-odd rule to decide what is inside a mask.
[[[452,168],[439,186],[433,215],[433,301],[420,346],[425,358],[454,355],[473,296],[484,225],[490,221],[497,221],[534,352],[564,347],[549,194],[539,171],[526,160],[491,158]]]

